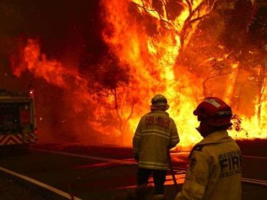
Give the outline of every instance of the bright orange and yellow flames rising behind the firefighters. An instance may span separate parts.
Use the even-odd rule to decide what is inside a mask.
[[[168,112],[177,123],[181,139],[180,148],[186,149],[201,140],[194,129],[199,122],[192,112],[206,95],[219,96],[233,105],[242,123],[240,130],[230,131],[231,136],[266,138],[266,92],[260,91],[262,99],[259,101],[255,92],[249,92],[252,88],[248,87],[245,95],[253,97],[244,99],[243,96],[241,100],[236,100],[248,72],[240,69],[234,59],[228,59],[224,47],[218,47],[216,57],[202,58],[199,54],[195,58],[198,62],[195,70],[192,69],[196,62],[194,58],[186,60],[192,66],[180,62],[182,54],[193,49],[194,34],[200,22],[198,18],[209,14],[215,5],[205,5],[201,0],[168,2],[171,1],[102,1],[106,12],[103,20],[107,23],[103,39],[119,58],[119,64],[128,66],[130,74],[127,85],[117,84],[106,95],[88,92],[88,84],[94,83],[80,76],[78,67],[67,68],[63,62],[47,60],[40,52],[38,42],[32,39],[23,50],[23,62],[14,66],[14,74],[20,76],[28,69],[36,77],[74,93],[77,112],[90,103],[94,120],[89,120],[88,125],[104,134],[123,135],[121,142],[124,144],[130,143],[141,115],[149,112],[150,99],[157,93],[168,99]],[[226,58],[228,61],[224,63],[227,66],[221,66],[220,62]],[[219,71],[219,75],[210,70],[211,66],[216,68],[216,73]],[[209,70],[210,73],[203,75]],[[242,100],[247,106],[246,103],[239,105]]]

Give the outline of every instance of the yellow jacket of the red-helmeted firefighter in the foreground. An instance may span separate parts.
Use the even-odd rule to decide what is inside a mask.
[[[242,157],[227,131],[197,143],[190,155],[183,189],[175,200],[240,200]]]

